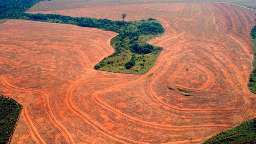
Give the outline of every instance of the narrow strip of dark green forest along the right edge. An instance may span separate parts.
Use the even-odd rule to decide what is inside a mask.
[[[256,93],[256,26],[251,30],[251,38],[252,38],[252,47],[254,49],[254,60],[253,66],[254,69],[251,72],[248,87],[251,92]]]

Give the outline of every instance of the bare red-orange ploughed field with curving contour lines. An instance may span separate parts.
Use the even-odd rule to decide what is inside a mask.
[[[201,143],[256,117],[256,95],[247,88],[254,11],[176,3],[43,13],[117,20],[124,12],[127,20],[159,19],[166,29],[150,41],[164,50],[144,75],[93,69],[114,52],[116,33],[21,20],[0,25],[0,93],[24,107],[13,144]]]

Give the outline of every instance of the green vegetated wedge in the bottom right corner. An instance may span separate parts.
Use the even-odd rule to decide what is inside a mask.
[[[255,142],[256,118],[248,120],[231,130],[220,132],[203,144],[255,144]]]

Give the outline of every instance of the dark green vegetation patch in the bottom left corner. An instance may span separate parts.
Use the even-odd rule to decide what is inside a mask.
[[[0,144],[8,142],[19,117],[22,106],[0,95]]]

